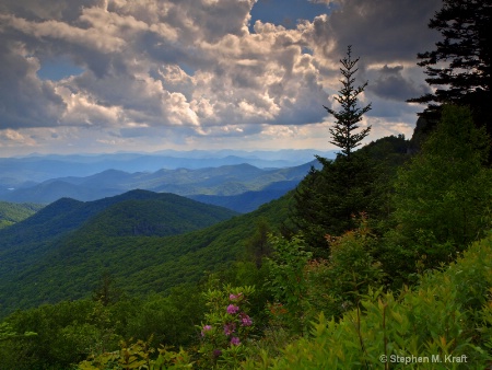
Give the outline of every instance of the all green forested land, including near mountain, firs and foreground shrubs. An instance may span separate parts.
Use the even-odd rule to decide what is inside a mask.
[[[349,46],[325,107],[340,152],[282,198],[237,215],[136,190],[4,227],[0,369],[490,368],[491,5],[444,4],[411,140],[362,146]]]

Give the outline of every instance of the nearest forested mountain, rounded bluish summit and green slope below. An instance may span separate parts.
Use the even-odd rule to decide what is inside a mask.
[[[237,217],[148,190],[85,203],[59,199],[0,230],[0,315],[87,297],[104,273],[142,294],[198,281],[237,257],[259,217],[274,224],[285,212],[285,200]]]

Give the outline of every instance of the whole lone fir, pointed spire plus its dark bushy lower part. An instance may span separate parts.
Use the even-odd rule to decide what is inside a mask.
[[[374,163],[367,155],[354,151],[371,130],[368,126],[355,131],[360,128],[363,115],[371,109],[371,104],[359,107],[359,96],[367,82],[354,86],[359,58],[352,59],[351,51],[349,46],[347,57],[340,60],[342,88],[335,99],[341,111],[325,106],[337,119],[329,129],[330,142],[341,151],[335,161],[317,157],[323,169],[312,169],[294,194],[293,220],[312,246],[315,257],[329,255],[327,234],[340,235],[353,229],[359,213],[375,215],[378,204],[375,200],[377,174]]]

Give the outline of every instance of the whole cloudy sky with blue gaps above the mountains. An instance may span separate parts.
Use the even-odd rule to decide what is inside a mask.
[[[340,59],[366,141],[411,137],[441,0],[1,0],[0,157],[336,149]]]

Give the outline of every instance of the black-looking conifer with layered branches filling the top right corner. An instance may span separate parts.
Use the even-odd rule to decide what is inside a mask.
[[[476,125],[491,134],[492,2],[443,0],[429,27],[444,38],[435,50],[418,55],[419,66],[427,74],[425,81],[435,91],[408,102],[427,104],[421,116],[433,124],[445,103],[469,106]]]

